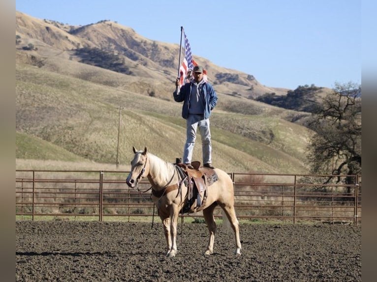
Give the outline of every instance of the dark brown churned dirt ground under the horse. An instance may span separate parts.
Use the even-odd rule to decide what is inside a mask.
[[[160,222],[17,221],[16,281],[361,281],[361,226],[241,225],[239,257],[221,227],[205,256],[207,226],[179,225],[167,258]]]

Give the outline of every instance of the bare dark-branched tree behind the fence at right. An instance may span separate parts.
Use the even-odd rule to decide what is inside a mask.
[[[313,113],[309,128],[315,132],[308,148],[312,172],[361,173],[361,85],[336,84]]]

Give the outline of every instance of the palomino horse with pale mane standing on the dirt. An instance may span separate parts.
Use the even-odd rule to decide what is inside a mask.
[[[188,199],[188,185],[178,173],[177,165],[163,161],[156,155],[144,150],[137,151],[132,147],[134,157],[126,184],[129,188],[137,188],[140,179],[147,177],[152,185],[152,200],[156,203],[166,239],[166,256],[177,254],[177,222],[180,211]],[[239,224],[234,209],[233,182],[229,174],[221,169],[214,169],[217,181],[207,187],[207,197],[201,209],[209,231],[209,240],[205,255],[213,254],[216,233],[216,222],[213,215],[216,206],[220,206],[226,220],[233,229],[236,243],[236,256],[241,255]],[[138,189],[138,188],[137,188]],[[229,225],[229,224],[228,224]]]

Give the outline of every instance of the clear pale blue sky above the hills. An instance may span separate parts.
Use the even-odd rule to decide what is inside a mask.
[[[183,26],[194,58],[267,86],[361,83],[361,0],[16,0],[16,10],[69,25],[116,21],[177,44]]]

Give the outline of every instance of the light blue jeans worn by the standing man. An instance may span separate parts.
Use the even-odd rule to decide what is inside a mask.
[[[182,160],[184,164],[191,163],[198,127],[202,138],[203,164],[212,163],[210,120],[204,119],[200,114],[189,114],[186,120],[186,144]]]

